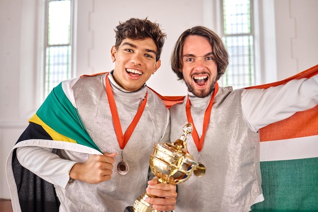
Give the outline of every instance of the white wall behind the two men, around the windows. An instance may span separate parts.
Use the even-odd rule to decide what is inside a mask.
[[[44,0],[0,0],[0,198],[10,198],[5,175],[9,151],[27,126],[27,120],[41,104],[37,83],[41,61]],[[93,74],[113,68],[110,48],[114,44],[113,29],[118,21],[130,17],[157,21],[168,34],[162,53],[162,66],[147,83],[163,95],[184,95],[184,85],[170,68],[170,53],[179,34],[194,25],[218,30],[217,6],[210,0],[162,0],[154,2],[105,0],[77,1],[76,56],[77,73]],[[264,70],[260,83],[282,80],[318,64],[318,1],[256,0],[258,50]],[[211,9],[211,10],[210,10]],[[41,42],[40,42],[41,43]],[[277,70],[277,72],[276,72]]]

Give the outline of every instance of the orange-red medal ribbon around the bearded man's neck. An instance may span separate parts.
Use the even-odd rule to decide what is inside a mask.
[[[186,104],[185,104],[186,118],[187,118],[188,122],[193,124],[192,137],[193,137],[193,140],[197,146],[198,152],[201,152],[202,147],[203,147],[204,136],[205,136],[205,132],[207,130],[207,127],[208,127],[208,124],[210,121],[213,100],[214,100],[214,96],[216,95],[217,91],[218,91],[218,83],[216,82],[213,95],[211,97],[210,103],[209,103],[209,105],[205,111],[205,114],[204,114],[202,136],[200,137],[200,139],[199,139],[199,135],[198,135],[197,129],[195,127],[195,124],[193,122],[192,116],[191,116],[189,95],[187,96],[187,99],[186,99]]]

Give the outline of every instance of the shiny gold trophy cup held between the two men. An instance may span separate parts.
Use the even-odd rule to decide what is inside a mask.
[[[150,168],[160,183],[180,184],[187,181],[192,172],[195,175],[203,176],[204,166],[199,166],[193,156],[187,152],[186,135],[192,133],[192,123],[183,126],[183,134],[174,143],[155,144],[153,153],[150,156]],[[145,201],[147,197],[155,197],[143,193],[134,202],[134,212],[157,212],[152,205]]]

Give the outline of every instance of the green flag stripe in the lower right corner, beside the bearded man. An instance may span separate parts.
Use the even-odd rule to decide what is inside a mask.
[[[261,162],[265,200],[255,211],[318,211],[318,158]]]

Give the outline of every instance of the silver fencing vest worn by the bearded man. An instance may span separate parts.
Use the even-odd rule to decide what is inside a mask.
[[[186,211],[249,211],[262,194],[259,133],[244,122],[241,90],[219,87],[214,98],[211,117],[201,151],[201,163],[206,167],[202,178],[194,174],[177,186],[175,212]],[[191,113],[199,137],[205,110],[211,95],[197,98],[189,93]],[[178,138],[187,122],[185,102],[170,108],[171,136]],[[199,153],[191,134],[187,136],[189,154],[196,161]]]

